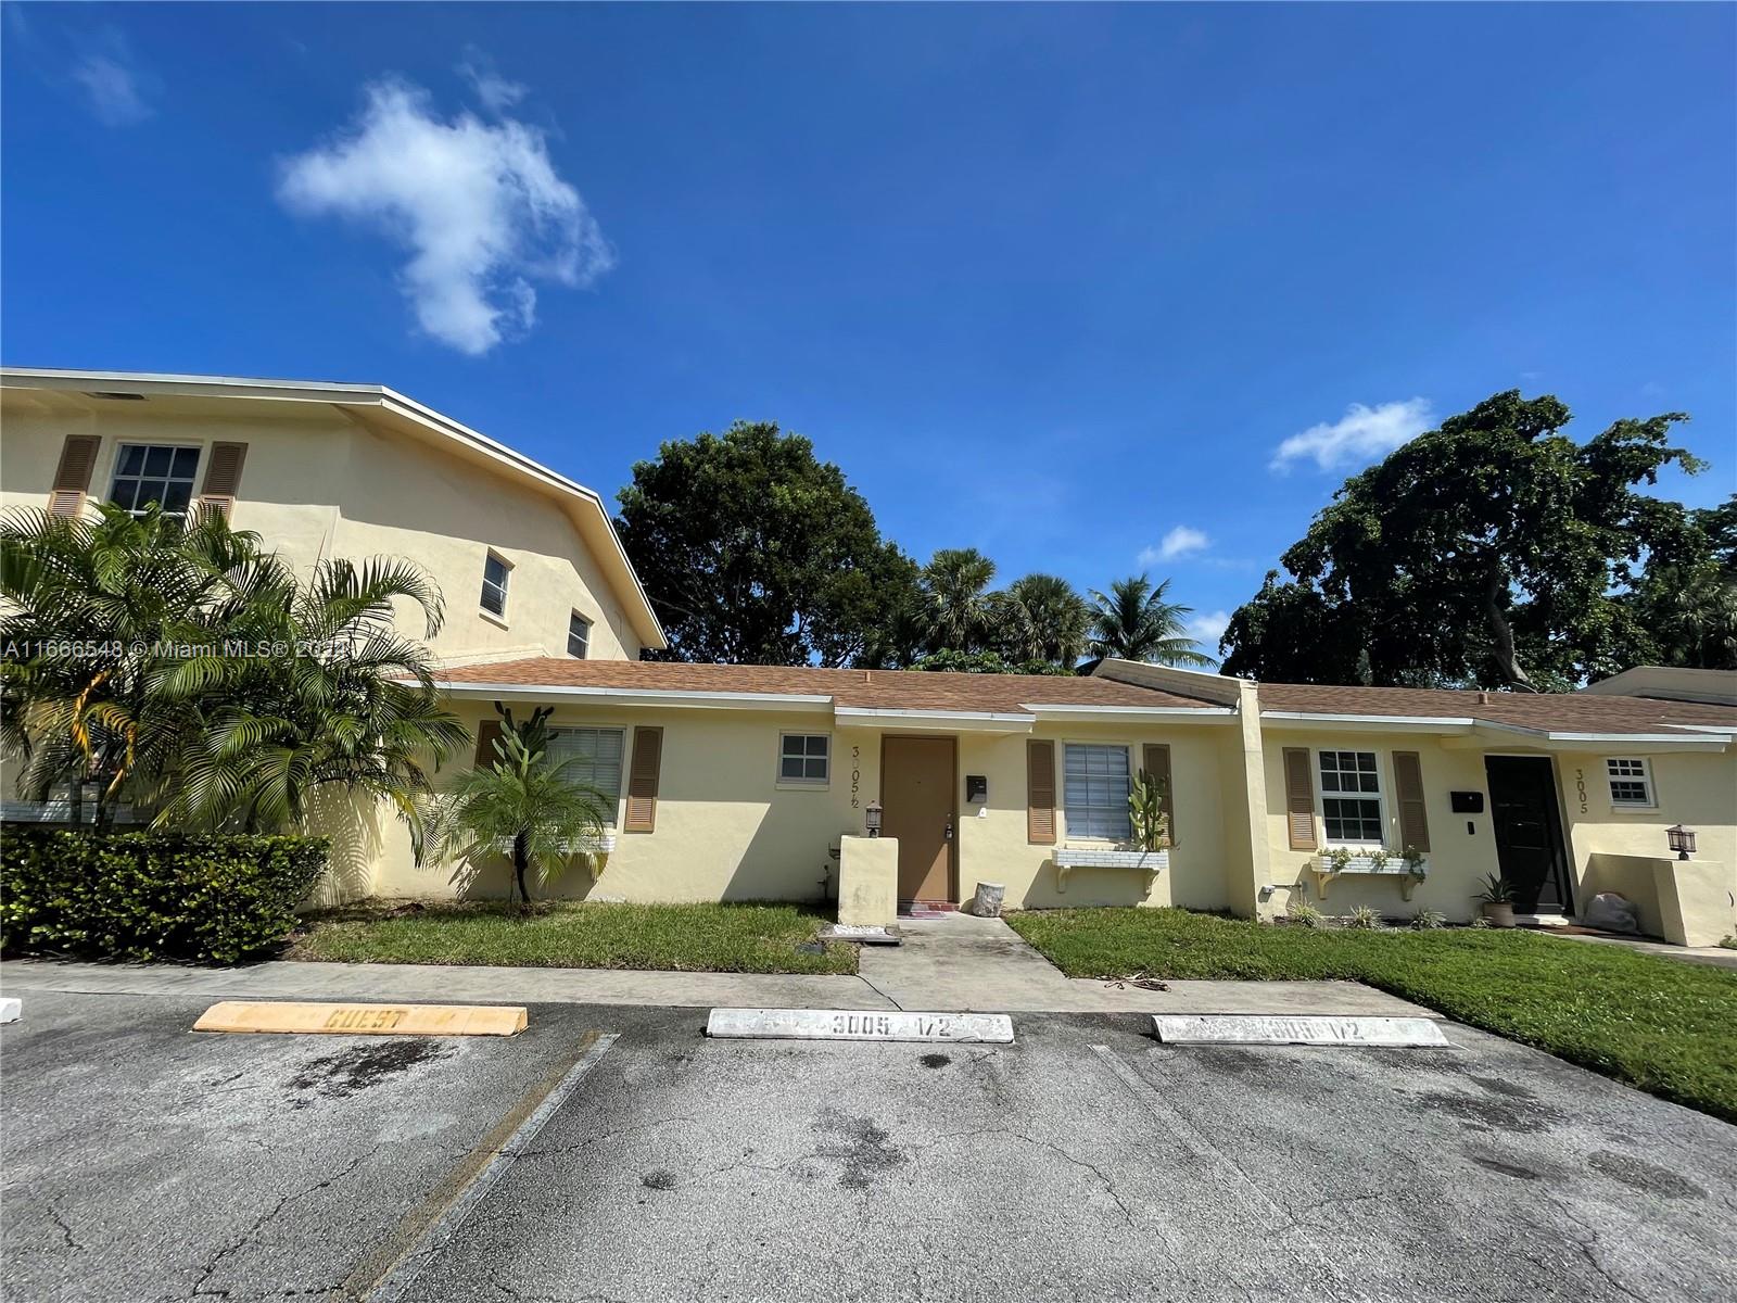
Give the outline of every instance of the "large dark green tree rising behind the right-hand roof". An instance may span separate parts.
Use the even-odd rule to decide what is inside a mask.
[[[1638,492],[1699,462],[1681,413],[1575,443],[1556,398],[1499,393],[1344,481],[1221,643],[1268,681],[1565,688],[1622,667],[1643,559],[1687,513]]]

